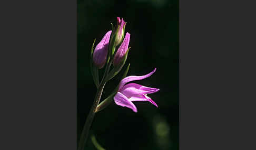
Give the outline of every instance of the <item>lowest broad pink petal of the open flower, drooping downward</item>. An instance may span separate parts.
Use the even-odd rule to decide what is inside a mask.
[[[136,106],[131,101],[129,101],[129,99],[126,98],[125,95],[123,95],[122,93],[117,92],[114,97],[114,100],[117,105],[120,105],[123,107],[125,106],[127,108],[132,109],[134,112],[137,112]]]

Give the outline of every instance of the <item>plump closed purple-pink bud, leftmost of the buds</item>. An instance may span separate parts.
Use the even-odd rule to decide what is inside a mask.
[[[95,47],[95,50],[93,52],[93,63],[99,69],[103,68],[106,63],[107,51],[109,50],[110,36],[111,30],[105,34],[105,36]]]

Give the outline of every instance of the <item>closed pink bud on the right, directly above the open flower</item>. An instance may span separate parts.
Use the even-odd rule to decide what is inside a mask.
[[[113,60],[114,67],[117,66],[122,61],[123,57],[125,56],[125,53],[128,50],[129,42],[130,42],[130,34],[126,33],[121,46],[115,53],[114,60]]]

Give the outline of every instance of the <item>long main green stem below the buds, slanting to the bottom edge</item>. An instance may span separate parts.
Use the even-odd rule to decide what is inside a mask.
[[[87,137],[88,137],[88,133],[89,133],[92,121],[93,121],[93,117],[95,115],[95,110],[97,108],[97,105],[100,102],[101,95],[102,95],[105,84],[106,83],[101,84],[99,89],[97,89],[97,93],[95,95],[95,99],[94,99],[92,108],[91,108],[90,113],[88,114],[86,122],[84,124],[84,128],[83,128],[83,131],[82,131],[82,134],[81,134],[81,137],[80,137],[80,141],[79,141],[79,145],[78,145],[78,150],[84,150],[86,140],[87,140]]]

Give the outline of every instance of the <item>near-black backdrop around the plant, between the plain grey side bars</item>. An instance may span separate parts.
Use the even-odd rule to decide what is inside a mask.
[[[106,149],[179,148],[179,9],[178,1],[77,1],[77,139],[96,93],[90,72],[90,49],[116,24],[116,17],[127,22],[131,34],[126,66],[127,76],[156,72],[135,81],[159,88],[149,96],[157,103],[135,102],[138,109],[123,108],[112,102],[97,113],[91,134]],[[124,68],[105,86],[102,100],[119,83]],[[103,73],[104,69],[100,71]],[[88,138],[86,149],[96,149]]]

